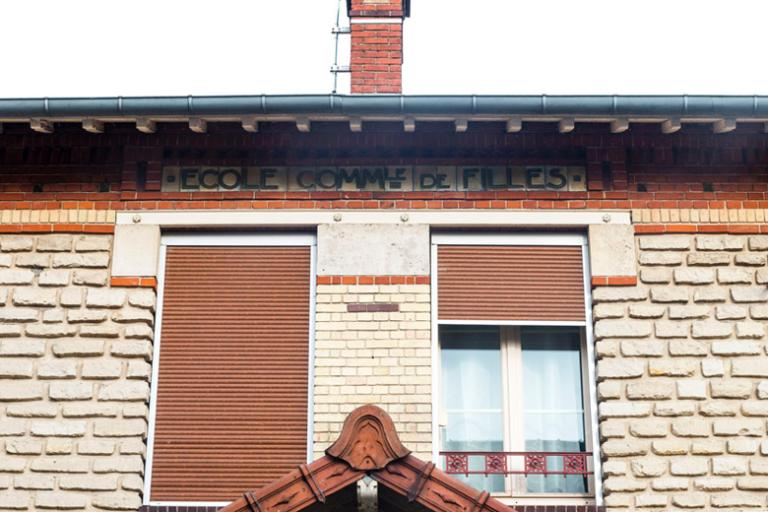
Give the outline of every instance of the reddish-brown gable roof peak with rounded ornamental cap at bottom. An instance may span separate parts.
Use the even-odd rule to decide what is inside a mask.
[[[366,475],[379,486],[436,512],[515,512],[424,462],[400,442],[389,415],[375,405],[352,411],[322,457],[220,509],[220,512],[297,512],[332,501]]]

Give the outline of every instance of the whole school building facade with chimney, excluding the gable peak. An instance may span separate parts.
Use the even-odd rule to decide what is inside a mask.
[[[371,403],[512,507],[768,506],[768,99],[401,96],[407,12],[362,94],[0,100],[0,508],[215,509]]]

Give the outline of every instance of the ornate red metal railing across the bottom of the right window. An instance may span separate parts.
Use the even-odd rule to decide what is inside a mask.
[[[440,456],[445,457],[445,472],[452,475],[592,474],[587,463],[590,452],[440,452]],[[484,461],[482,469],[470,469],[470,460],[478,462],[477,458]]]

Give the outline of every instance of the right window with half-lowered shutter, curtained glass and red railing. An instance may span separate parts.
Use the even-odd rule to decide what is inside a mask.
[[[443,467],[515,498],[594,495],[585,242],[435,235]]]

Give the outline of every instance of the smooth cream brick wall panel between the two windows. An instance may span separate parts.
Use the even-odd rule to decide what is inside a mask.
[[[373,403],[403,443],[429,460],[432,369],[429,285],[317,287],[314,456],[336,439],[346,415]],[[395,303],[397,312],[350,313],[350,303]]]

